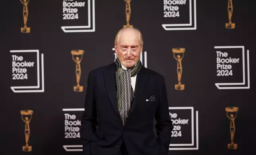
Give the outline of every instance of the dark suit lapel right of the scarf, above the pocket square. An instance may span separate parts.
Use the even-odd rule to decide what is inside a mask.
[[[146,68],[142,66],[142,68],[140,69],[136,77],[134,99],[132,101],[132,106],[130,108],[129,115],[134,110],[134,107],[136,106],[136,104],[138,104],[138,102],[140,101],[140,96],[144,92],[148,79],[149,79],[149,76],[146,74]]]

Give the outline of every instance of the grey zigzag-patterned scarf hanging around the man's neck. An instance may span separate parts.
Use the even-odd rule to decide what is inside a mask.
[[[120,60],[117,58],[116,61],[116,97],[118,99],[118,110],[122,118],[123,125],[128,117],[134,92],[132,90],[131,77],[137,75],[142,67],[142,62],[139,62],[128,70],[122,69]]]

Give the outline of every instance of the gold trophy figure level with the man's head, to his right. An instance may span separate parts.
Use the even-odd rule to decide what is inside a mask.
[[[182,76],[182,64],[181,61],[184,57],[184,53],[185,53],[185,49],[184,48],[173,48],[173,57],[174,59],[177,61],[177,74],[178,74],[178,84],[175,85],[175,89],[176,90],[184,90],[185,89],[185,85],[181,84],[181,76]],[[175,55],[176,54],[176,55]],[[182,55],[182,56],[180,56]]]

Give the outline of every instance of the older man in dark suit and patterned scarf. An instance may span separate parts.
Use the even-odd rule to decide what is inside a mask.
[[[173,125],[164,77],[142,66],[138,29],[119,30],[114,48],[114,63],[89,72],[81,121],[84,155],[167,155]]]

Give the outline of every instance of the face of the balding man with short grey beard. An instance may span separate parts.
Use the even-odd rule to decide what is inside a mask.
[[[121,32],[118,44],[115,44],[114,49],[122,65],[128,69],[135,66],[140,59],[140,53],[142,53],[138,32],[129,29]]]

